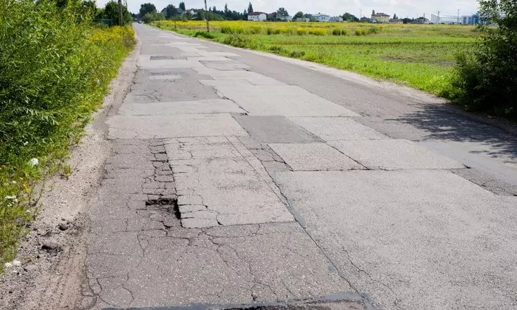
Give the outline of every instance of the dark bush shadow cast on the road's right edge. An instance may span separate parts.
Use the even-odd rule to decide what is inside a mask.
[[[426,139],[476,143],[477,149],[469,151],[472,154],[517,159],[517,137],[514,134],[474,121],[446,107],[423,106],[392,121],[413,125],[427,132]]]

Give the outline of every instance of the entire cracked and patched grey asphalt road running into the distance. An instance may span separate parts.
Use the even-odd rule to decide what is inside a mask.
[[[517,308],[514,136],[404,87],[135,29],[84,308]]]

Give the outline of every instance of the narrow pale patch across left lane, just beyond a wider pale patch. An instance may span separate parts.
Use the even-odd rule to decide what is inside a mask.
[[[203,99],[199,101],[159,102],[159,103],[126,103],[119,114],[136,115],[176,115],[176,114],[213,114],[213,113],[245,113],[233,101],[226,99]]]

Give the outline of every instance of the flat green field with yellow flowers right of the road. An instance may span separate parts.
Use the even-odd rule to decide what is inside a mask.
[[[159,21],[159,28],[331,65],[449,97],[455,55],[478,30],[467,25]],[[176,25],[176,28],[174,28]]]

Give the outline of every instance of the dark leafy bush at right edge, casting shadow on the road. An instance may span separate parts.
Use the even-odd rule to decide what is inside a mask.
[[[480,26],[472,50],[457,57],[454,99],[468,110],[517,117],[517,2],[482,0]]]

